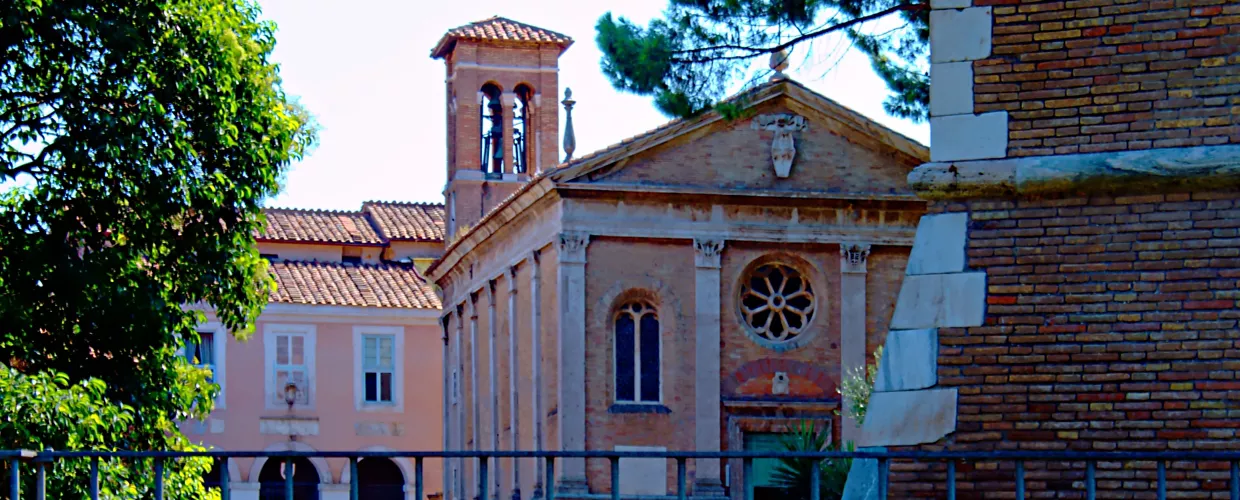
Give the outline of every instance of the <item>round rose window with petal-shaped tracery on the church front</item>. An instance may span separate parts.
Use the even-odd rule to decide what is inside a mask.
[[[781,263],[763,264],[740,285],[740,315],[763,339],[790,341],[813,319],[813,299],[810,282],[799,270]]]

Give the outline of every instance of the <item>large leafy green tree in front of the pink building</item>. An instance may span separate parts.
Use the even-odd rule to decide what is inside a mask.
[[[250,0],[0,2],[0,401],[25,401],[0,416],[0,449],[192,449],[176,423],[210,412],[217,388],[177,355],[202,320],[184,306],[253,328],[272,287],[252,237],[260,202],[315,141],[259,14]],[[58,468],[52,498],[81,498],[79,473]],[[141,476],[115,494],[149,498]]]

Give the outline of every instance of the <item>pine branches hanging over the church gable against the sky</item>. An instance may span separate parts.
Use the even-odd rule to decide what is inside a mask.
[[[618,89],[652,96],[666,114],[687,117],[714,105],[739,79],[770,69],[755,60],[844,32],[869,56],[890,94],[888,113],[923,120],[930,99],[929,9],[925,0],[668,0],[645,27],[611,12],[599,19],[603,72]],[[898,16],[880,33],[863,24]]]

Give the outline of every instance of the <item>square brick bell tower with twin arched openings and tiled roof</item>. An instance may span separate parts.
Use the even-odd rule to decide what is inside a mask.
[[[565,35],[505,17],[448,31],[448,241],[538,172],[559,164],[559,56]]]

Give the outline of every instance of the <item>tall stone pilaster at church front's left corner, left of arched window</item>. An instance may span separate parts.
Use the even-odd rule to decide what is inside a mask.
[[[559,445],[585,450],[585,247],[590,234],[559,233]],[[585,460],[559,460],[558,489],[585,493]]]

